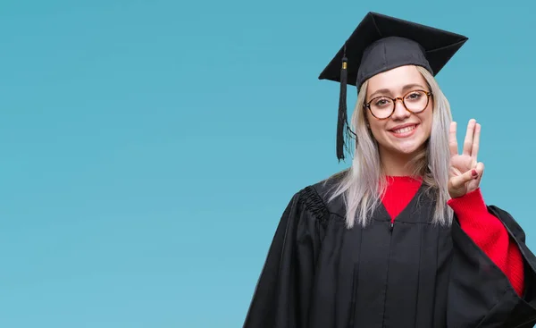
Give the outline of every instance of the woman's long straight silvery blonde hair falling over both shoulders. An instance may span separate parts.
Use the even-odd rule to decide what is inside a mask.
[[[423,178],[427,191],[434,195],[435,209],[433,223],[450,224],[452,210],[448,201],[448,128],[452,121],[450,105],[431,73],[417,66],[431,88],[433,114],[431,136],[421,154],[410,163],[414,174]],[[378,145],[366,126],[363,110],[368,82],[365,81],[357,95],[357,104],[352,114],[350,127],[356,133],[355,154],[352,165],[342,175],[339,183],[332,190],[330,201],[342,197],[346,206],[346,224],[352,228],[355,223],[366,226],[373,211],[380,204],[381,195],[386,188],[385,177],[381,172]],[[329,180],[329,179],[328,179]]]

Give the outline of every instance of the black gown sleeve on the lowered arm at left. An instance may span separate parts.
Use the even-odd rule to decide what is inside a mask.
[[[307,326],[314,259],[319,248],[315,201],[298,192],[281,216],[247,311],[244,328]],[[320,207],[319,207],[320,208]]]

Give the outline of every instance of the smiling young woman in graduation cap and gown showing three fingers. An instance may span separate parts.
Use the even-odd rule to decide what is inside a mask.
[[[322,71],[341,83],[338,156],[348,129],[353,163],[290,200],[244,327],[536,323],[536,257],[514,218],[484,203],[481,126],[467,124],[458,152],[434,79],[466,39],[369,13]]]

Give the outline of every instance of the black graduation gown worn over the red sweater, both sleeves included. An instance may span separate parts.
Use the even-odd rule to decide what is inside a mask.
[[[431,223],[422,186],[391,226],[385,207],[351,230],[331,183],[300,190],[281,217],[245,328],[533,327],[536,257],[514,218],[497,206],[521,249],[525,292],[460,228]]]

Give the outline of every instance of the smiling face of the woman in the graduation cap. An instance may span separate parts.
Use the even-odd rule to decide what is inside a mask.
[[[419,99],[426,97],[412,92],[418,90],[431,91],[423,75],[417,71],[415,66],[401,66],[381,72],[369,79],[365,104],[376,97],[394,98],[407,95],[406,104],[412,108],[419,101],[423,101]],[[373,104],[376,109],[390,113],[390,107],[385,105],[388,103],[385,101],[387,98],[383,99],[380,99],[380,102],[375,100]],[[425,103],[426,101],[423,104]],[[375,118],[368,108],[364,108],[370,129],[378,141],[381,153],[389,152],[395,156],[412,155],[424,147],[425,141],[431,134],[432,107],[433,101],[430,97],[423,112],[413,114],[407,111],[405,105],[398,99],[395,102],[393,114],[384,120]]]

